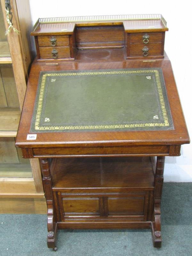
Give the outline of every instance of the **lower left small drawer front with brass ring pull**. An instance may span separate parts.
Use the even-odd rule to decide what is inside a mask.
[[[41,59],[70,58],[69,46],[66,47],[39,47]]]

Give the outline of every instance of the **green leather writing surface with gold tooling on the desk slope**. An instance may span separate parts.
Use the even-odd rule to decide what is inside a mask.
[[[40,73],[30,132],[168,129],[161,68]]]

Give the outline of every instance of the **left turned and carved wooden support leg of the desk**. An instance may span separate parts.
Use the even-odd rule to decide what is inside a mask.
[[[54,216],[54,203],[53,203],[53,193],[52,193],[52,177],[49,167],[48,158],[41,158],[41,171],[43,175],[43,187],[45,192],[45,198],[47,203],[47,246],[53,248],[56,251],[56,233],[57,224],[55,223]]]

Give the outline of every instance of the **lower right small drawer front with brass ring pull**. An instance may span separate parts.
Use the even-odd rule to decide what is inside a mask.
[[[144,51],[143,49],[146,49],[146,51]],[[161,55],[161,49],[161,44],[131,44],[130,56],[158,56]]]

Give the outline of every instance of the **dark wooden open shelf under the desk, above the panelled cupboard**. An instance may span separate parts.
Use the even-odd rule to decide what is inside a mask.
[[[52,189],[153,188],[150,157],[57,158],[52,162]]]

